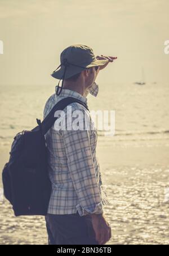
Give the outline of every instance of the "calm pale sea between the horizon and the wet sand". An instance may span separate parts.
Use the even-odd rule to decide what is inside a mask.
[[[114,143],[155,140],[169,142],[169,84],[97,83],[96,97],[87,96],[90,110],[114,112],[114,133],[97,130],[101,140]],[[37,126],[43,120],[45,103],[53,93],[50,86],[0,86],[0,147],[10,146],[16,133]],[[96,123],[97,126],[97,123]]]

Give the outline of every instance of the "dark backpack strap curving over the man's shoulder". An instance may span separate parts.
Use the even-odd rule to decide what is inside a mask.
[[[42,133],[46,134],[56,121],[57,117],[54,117],[56,110],[63,110],[66,106],[75,102],[83,105],[87,110],[89,110],[87,104],[83,103],[81,100],[75,99],[74,97],[66,97],[65,99],[62,99],[58,103],[56,103],[56,105],[51,109],[50,113],[48,113],[45,119],[42,121]]]

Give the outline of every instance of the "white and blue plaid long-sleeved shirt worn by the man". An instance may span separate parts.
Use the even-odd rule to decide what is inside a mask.
[[[97,95],[98,86],[95,82],[88,92]],[[54,93],[46,102],[43,117],[65,97],[75,97],[87,103],[86,96],[70,89],[63,89],[59,96]],[[97,129],[84,106],[78,103],[69,106],[72,106],[72,112],[81,110],[88,115],[92,130],[56,130],[53,125],[47,131],[48,172],[52,183],[48,214],[74,214],[77,211],[80,216],[101,214],[103,205],[111,202],[103,188],[96,155]]]

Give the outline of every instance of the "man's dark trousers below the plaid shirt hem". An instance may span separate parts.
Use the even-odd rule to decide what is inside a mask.
[[[49,245],[98,245],[90,215],[47,214],[45,220]]]

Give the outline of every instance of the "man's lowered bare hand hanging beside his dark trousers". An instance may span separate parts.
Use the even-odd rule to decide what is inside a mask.
[[[91,217],[96,241],[99,242],[99,245],[104,245],[112,237],[111,227],[103,215],[92,214]]]

